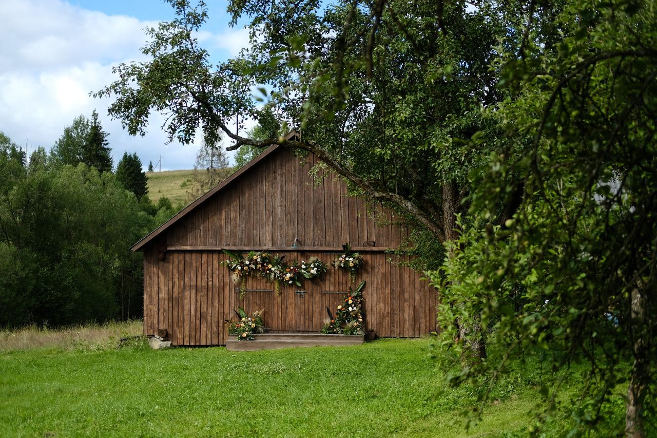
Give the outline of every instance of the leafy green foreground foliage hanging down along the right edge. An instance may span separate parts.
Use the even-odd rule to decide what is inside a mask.
[[[448,379],[459,385],[494,381],[527,351],[545,351],[535,433],[560,410],[572,434],[600,427],[604,401],[629,381],[627,425],[604,433],[640,433],[657,408],[657,11],[576,1],[553,12],[560,32],[533,27],[524,57],[495,63],[512,99],[491,116],[511,141],[482,166],[471,220],[430,273],[443,303],[436,354],[458,366]],[[500,199],[516,191],[518,212],[495,223]],[[505,354],[461,368],[466,343],[454,342],[453,322],[472,315]],[[578,362],[583,387],[562,403],[557,372]]]

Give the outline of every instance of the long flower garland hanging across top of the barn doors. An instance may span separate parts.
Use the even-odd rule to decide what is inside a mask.
[[[272,256],[269,253],[250,251],[246,256],[222,249],[229,257],[224,262],[237,280],[240,280],[240,299],[246,293],[246,277],[260,276],[266,281],[274,283],[277,294],[281,294],[281,284],[286,286],[297,285],[301,287],[301,279],[312,280],[327,272],[327,265],[317,257],[298,263],[295,261],[287,264],[285,256]]]

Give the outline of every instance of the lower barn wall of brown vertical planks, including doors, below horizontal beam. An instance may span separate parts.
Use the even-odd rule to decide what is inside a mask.
[[[288,260],[317,256],[324,262],[335,252],[292,252]],[[366,280],[363,290],[367,328],[385,337],[417,337],[436,329],[436,289],[420,281],[417,273],[390,263],[390,255],[367,252],[365,268],[357,282]],[[158,260],[155,251],[145,253],[144,331],[168,329],[173,345],[224,344],[227,332],[223,321],[242,306],[248,312],[265,309],[265,326],[273,330],[319,331],[327,318],[325,308],[334,312],[350,283],[342,270],[329,268],[327,274],[299,287],[281,287],[248,278],[246,296],[239,299],[238,283],[219,262],[219,251],[168,251]]]

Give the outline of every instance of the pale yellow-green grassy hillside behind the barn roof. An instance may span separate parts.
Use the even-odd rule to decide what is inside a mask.
[[[226,169],[224,178],[229,176],[232,168]],[[161,197],[168,197],[173,205],[187,205],[200,195],[198,184],[194,182],[194,170],[165,170],[164,172],[147,172],[148,197],[157,203]]]

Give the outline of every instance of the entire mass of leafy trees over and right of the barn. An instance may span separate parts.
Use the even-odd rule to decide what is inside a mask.
[[[204,3],[169,3],[150,61],[116,66],[96,93],[131,134],[164,108],[182,143],[201,128],[245,155],[317,155],[413,226],[447,382],[485,388],[539,354],[550,376],[530,434],[555,418],[587,433],[620,387],[614,433],[654,431],[654,2],[232,1],[252,38],[218,66],[194,39]],[[298,135],[240,135],[265,111]],[[557,376],[573,362],[588,372],[565,406]]]

